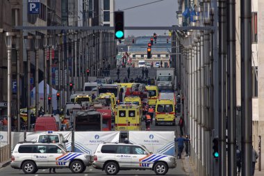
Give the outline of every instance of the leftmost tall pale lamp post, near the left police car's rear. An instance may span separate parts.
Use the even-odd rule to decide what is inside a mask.
[[[8,53],[8,147],[9,147],[9,157],[11,157],[11,96],[12,96],[12,83],[11,83],[11,77],[12,77],[12,38],[14,36],[14,33],[7,32],[6,33],[6,50]]]

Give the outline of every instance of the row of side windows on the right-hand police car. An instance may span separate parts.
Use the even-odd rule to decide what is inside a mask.
[[[103,145],[101,152],[110,154],[145,154],[145,150],[142,147],[130,145]]]

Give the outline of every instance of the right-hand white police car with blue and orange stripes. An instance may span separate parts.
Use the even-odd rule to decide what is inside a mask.
[[[107,175],[132,169],[154,170],[156,175],[165,175],[169,168],[176,167],[176,159],[169,155],[152,154],[142,145],[103,143],[94,152],[92,166],[105,170]]]

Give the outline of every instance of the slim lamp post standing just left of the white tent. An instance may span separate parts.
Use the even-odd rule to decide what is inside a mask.
[[[25,45],[26,45],[26,63],[27,63],[27,79],[26,79],[26,90],[27,90],[27,120],[28,120],[28,131],[31,130],[31,56],[30,56],[30,51],[31,51],[31,40],[32,36],[27,35],[24,36],[25,40]]]

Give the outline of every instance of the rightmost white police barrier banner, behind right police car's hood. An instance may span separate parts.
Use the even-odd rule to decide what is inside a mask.
[[[174,131],[129,131],[129,141],[156,154],[175,155]]]

